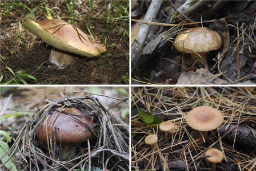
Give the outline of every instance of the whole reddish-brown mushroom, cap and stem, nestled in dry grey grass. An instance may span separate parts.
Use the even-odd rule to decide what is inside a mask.
[[[70,160],[72,156],[76,155],[77,146],[96,135],[97,127],[95,127],[95,122],[91,120],[89,115],[82,115],[83,112],[76,107],[64,107],[59,113],[60,110],[60,107],[55,108],[43,120],[37,129],[37,137],[43,143],[47,143],[47,140],[50,141],[52,136],[53,141],[56,139],[56,144],[61,144],[60,150],[67,148],[62,155],[63,160],[66,158]],[[55,133],[54,128],[59,130]]]

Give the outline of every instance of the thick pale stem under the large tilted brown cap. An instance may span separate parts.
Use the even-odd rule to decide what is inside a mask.
[[[70,66],[74,61],[74,58],[70,52],[65,52],[52,46],[49,61],[57,65],[59,70],[62,70],[67,66]]]

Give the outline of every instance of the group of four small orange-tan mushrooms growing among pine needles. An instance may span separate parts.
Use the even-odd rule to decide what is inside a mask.
[[[218,111],[218,109],[206,105],[192,109],[186,116],[187,124],[201,133],[203,141],[205,141],[207,131],[212,131],[220,127],[223,120],[223,115]],[[170,133],[173,134],[178,131],[178,126],[174,125],[170,121],[165,121],[159,125],[159,129],[165,132],[165,141],[167,141]],[[157,141],[157,135],[149,135],[145,138],[145,143],[151,145],[153,151],[155,150]],[[210,148],[205,152],[205,155],[211,156],[206,159],[211,162],[213,171],[215,171],[216,168],[215,164],[221,162],[224,158],[221,150],[216,148]]]

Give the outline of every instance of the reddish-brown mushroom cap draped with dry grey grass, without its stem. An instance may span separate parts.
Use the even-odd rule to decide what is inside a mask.
[[[75,117],[67,115],[67,113],[71,113],[73,115],[81,115],[82,112],[78,108],[66,108],[62,109],[62,112],[59,113],[61,108],[56,108],[56,111],[53,111],[50,115],[47,116],[47,133],[48,139],[51,137],[51,129],[53,128],[53,141],[54,141],[54,127],[58,128],[57,131],[57,140],[56,143],[60,144],[71,144],[71,143],[82,143],[91,139],[94,135],[87,129],[87,126],[83,124],[81,121],[85,122],[89,127],[92,127],[95,123],[89,117]],[[58,116],[59,113],[59,116]],[[58,116],[58,117],[57,117]],[[57,119],[56,119],[57,117]],[[81,121],[78,121],[81,120]],[[56,120],[55,120],[56,119]],[[53,126],[55,120],[55,124]],[[97,133],[97,127],[92,128],[94,133]],[[59,132],[59,133],[58,133]],[[37,137],[43,143],[47,143],[46,137],[46,119],[42,122],[42,124],[37,129]]]

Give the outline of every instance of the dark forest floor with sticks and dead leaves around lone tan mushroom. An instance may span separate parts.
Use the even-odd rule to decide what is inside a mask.
[[[256,2],[185,2],[132,1],[132,84],[255,84]],[[145,19],[151,23],[141,23]],[[220,50],[206,54],[207,65],[174,48],[184,29],[202,26],[223,39]]]

